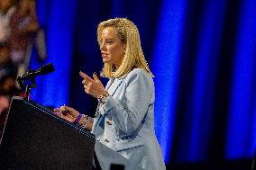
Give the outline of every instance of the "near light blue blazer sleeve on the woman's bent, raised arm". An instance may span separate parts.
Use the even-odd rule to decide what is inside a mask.
[[[103,114],[106,117],[111,116],[119,130],[133,133],[138,129],[149,108],[151,94],[154,90],[153,81],[144,70],[135,69],[128,74],[124,83],[124,102],[119,103],[109,96]]]

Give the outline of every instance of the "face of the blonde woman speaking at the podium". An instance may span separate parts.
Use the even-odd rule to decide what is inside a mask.
[[[125,45],[118,37],[117,31],[113,27],[106,27],[100,35],[101,57],[104,63],[113,63],[115,67],[120,67],[123,61]]]

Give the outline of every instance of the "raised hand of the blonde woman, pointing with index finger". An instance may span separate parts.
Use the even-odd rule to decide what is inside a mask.
[[[93,97],[99,98],[103,94],[107,94],[104,85],[102,85],[96,73],[93,74],[93,78],[87,76],[84,72],[80,71],[79,75],[83,77],[82,84],[84,85],[85,92]]]

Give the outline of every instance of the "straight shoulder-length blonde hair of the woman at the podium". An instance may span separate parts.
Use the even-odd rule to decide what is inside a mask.
[[[114,70],[112,63],[105,63],[101,76],[108,78],[126,76],[134,67],[140,67],[153,77],[143,55],[140,34],[136,25],[126,18],[114,18],[100,22],[97,27],[99,45],[101,44],[101,32],[106,27],[112,27],[117,31],[118,37],[126,45],[126,49],[121,66]]]

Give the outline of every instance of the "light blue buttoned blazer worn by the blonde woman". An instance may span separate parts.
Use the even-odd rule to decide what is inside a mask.
[[[110,79],[105,88],[110,96],[96,110],[96,140],[143,169],[166,169],[154,130],[151,76],[134,68],[127,76]]]

